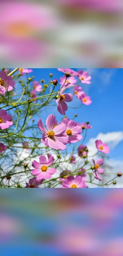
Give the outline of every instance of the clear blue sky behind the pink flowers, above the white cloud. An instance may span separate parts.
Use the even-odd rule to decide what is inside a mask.
[[[74,68],[75,71],[78,71],[80,69]],[[77,113],[78,117],[75,119],[76,122],[89,121],[91,123],[92,129],[88,131],[85,143],[87,143],[92,137],[96,138],[99,133],[106,134],[123,130],[123,70],[105,68],[94,68],[87,70],[89,71],[89,75],[91,75],[92,77],[91,84],[80,85],[85,93],[87,93],[92,98],[92,104],[89,106],[83,105],[81,108],[68,108],[68,111],[66,112],[66,115],[70,119],[73,118],[74,113]],[[60,76],[63,75],[56,68],[34,68],[33,73],[31,73],[30,75],[34,75],[36,81],[45,79],[45,83],[48,83],[49,73],[53,74],[52,79],[57,79],[58,81],[60,79]],[[58,88],[59,87],[56,86],[56,90]],[[71,92],[71,90],[72,89],[69,89],[69,92]],[[56,104],[55,101],[54,104]],[[77,107],[80,105],[81,102],[75,96],[73,98],[73,101],[68,103],[68,106],[70,107]],[[57,111],[57,107],[55,106],[46,107],[45,109],[43,108],[41,118],[45,122],[47,115],[52,113],[56,115],[56,119],[58,121],[63,118],[63,116]],[[123,140],[121,140],[118,145],[111,150],[110,157],[115,157],[119,160],[122,159],[122,148]]]

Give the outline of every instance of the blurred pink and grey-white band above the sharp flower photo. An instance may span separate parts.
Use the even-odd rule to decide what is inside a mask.
[[[123,67],[123,0],[4,0],[1,13],[2,67]]]

